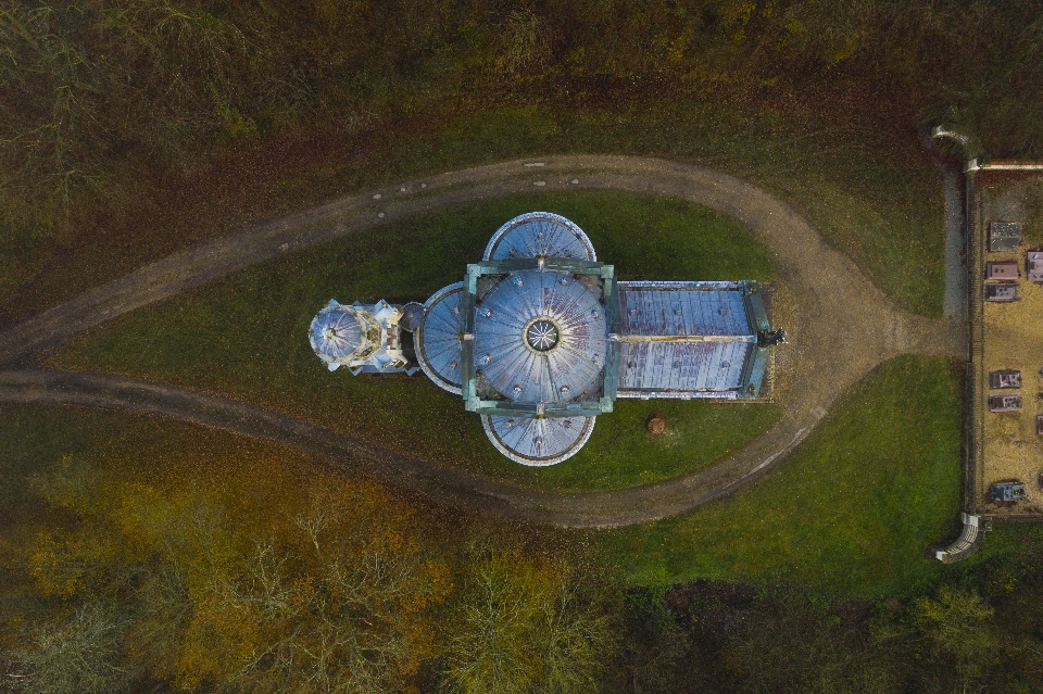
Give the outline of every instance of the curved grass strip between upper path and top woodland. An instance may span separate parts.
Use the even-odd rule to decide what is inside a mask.
[[[141,186],[141,197],[124,213],[104,217],[74,240],[0,251],[13,258],[10,277],[0,282],[0,321],[272,215],[405,178],[553,153],[666,156],[751,180],[793,205],[889,296],[915,313],[941,316],[938,174],[915,143],[892,135],[893,124],[858,109],[826,118],[792,106],[706,99],[611,110],[500,109],[438,124],[418,135],[367,134],[360,142],[302,133],[299,141],[259,143],[218,157],[179,184]],[[612,249],[599,248],[601,253],[608,256]],[[623,269],[642,272],[634,263]]]

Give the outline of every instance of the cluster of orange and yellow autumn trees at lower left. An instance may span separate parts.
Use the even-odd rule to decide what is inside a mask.
[[[2,553],[14,690],[598,691],[612,592],[564,550],[452,537],[314,462],[172,463],[66,456],[34,478],[49,513]]]

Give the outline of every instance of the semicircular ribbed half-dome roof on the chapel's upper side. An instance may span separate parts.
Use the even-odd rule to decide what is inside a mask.
[[[482,260],[571,257],[596,261],[594,247],[576,223],[550,212],[529,212],[511,219],[492,235]]]

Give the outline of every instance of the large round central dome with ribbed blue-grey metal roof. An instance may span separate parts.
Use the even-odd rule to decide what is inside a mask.
[[[475,367],[514,402],[568,402],[596,390],[606,340],[600,291],[566,273],[515,273],[476,307]]]

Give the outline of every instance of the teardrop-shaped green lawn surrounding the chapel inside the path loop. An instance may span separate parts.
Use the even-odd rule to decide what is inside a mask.
[[[546,489],[619,489],[693,470],[778,420],[766,404],[628,401],[594,427],[583,450],[550,468],[500,455],[460,396],[423,376],[330,374],[307,326],[330,298],[423,301],[458,281],[497,228],[532,210],[580,225],[624,279],[770,280],[767,251],[713,211],[605,191],[541,193],[419,216],[379,236],[337,241],[149,306],[55,355],[59,368],[118,373],[243,398],[334,430],[443,463]],[[652,414],[669,422],[653,440]],[[610,421],[611,420],[611,421]]]

